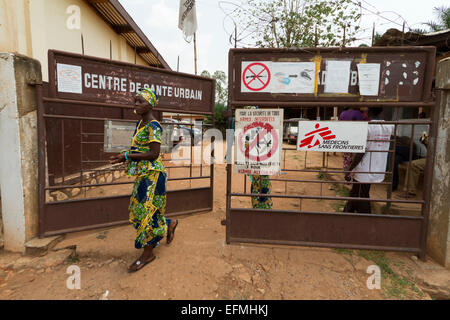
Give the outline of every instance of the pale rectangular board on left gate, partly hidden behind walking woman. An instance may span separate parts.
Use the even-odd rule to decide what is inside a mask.
[[[173,126],[161,125],[163,128],[161,135],[161,153],[169,153],[173,147]],[[131,140],[136,130],[136,122],[130,121],[105,121],[104,152],[119,153],[130,149]]]

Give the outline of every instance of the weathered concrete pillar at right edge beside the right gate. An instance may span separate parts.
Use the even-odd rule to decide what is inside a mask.
[[[450,268],[450,58],[438,64],[436,88],[442,89],[442,92],[427,253],[446,268]]]

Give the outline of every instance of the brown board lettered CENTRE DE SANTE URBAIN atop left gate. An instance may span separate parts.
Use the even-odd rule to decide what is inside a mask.
[[[215,80],[166,69],[146,67],[49,51],[49,95],[52,98],[134,104],[139,88],[152,88],[158,109],[211,114]]]

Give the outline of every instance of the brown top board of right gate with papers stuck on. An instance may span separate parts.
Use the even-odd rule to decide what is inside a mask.
[[[431,101],[435,55],[434,47],[231,49],[231,104]]]

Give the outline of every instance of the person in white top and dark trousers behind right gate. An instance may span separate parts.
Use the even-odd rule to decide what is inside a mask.
[[[372,120],[379,121],[379,115],[382,111],[382,108],[370,108],[369,117]],[[349,167],[349,171],[352,172],[345,174],[346,181],[351,181],[353,176],[353,182],[356,182],[352,185],[350,197],[370,198],[370,184],[382,182],[384,180],[388,153],[379,151],[389,151],[389,140],[393,131],[393,125],[369,124],[367,129],[367,140],[386,140],[386,142],[367,141],[366,150],[377,152],[368,151],[366,153],[357,153],[353,157]],[[370,201],[349,200],[345,205],[344,212],[371,213]]]

